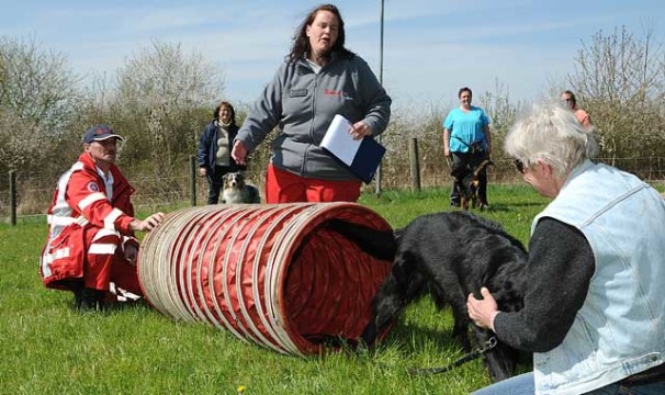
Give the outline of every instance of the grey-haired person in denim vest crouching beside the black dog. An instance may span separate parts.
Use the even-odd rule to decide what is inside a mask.
[[[552,201],[531,225],[523,308],[497,311],[486,287],[466,307],[533,352],[533,372],[475,394],[665,394],[665,201],[593,162],[593,131],[560,104],[519,119],[505,151]]]

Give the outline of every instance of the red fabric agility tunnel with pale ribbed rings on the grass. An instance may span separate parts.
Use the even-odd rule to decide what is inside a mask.
[[[356,203],[237,204],[170,213],[144,239],[138,275],[150,304],[282,353],[358,339],[391,269],[331,223],[392,228]],[[374,253],[375,255],[375,253]]]

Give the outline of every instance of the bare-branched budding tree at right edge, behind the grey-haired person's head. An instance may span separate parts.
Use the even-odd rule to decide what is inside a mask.
[[[583,43],[575,71],[566,81],[591,116],[601,155],[620,158],[660,156],[665,148],[665,53],[653,27],[635,36],[625,26],[596,33]]]

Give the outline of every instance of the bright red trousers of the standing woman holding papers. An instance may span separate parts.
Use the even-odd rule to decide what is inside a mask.
[[[304,178],[270,163],[266,172],[266,203],[356,202],[361,181]]]

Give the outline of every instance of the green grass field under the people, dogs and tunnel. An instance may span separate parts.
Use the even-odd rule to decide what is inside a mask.
[[[481,215],[528,239],[546,200],[523,185],[491,185]],[[386,191],[360,201],[402,227],[449,211],[447,190]],[[143,213],[145,214],[145,213]],[[143,215],[142,214],[142,215]],[[466,394],[488,384],[480,360],[412,377],[462,356],[448,312],[409,307],[381,347],[298,358],[239,341],[203,324],[176,323],[145,306],[108,314],[71,308],[71,294],[43,287],[45,218],[0,225],[0,394]]]

